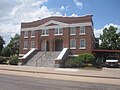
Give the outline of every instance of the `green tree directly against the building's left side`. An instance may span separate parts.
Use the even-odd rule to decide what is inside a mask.
[[[20,35],[16,34],[13,38],[11,38],[10,43],[7,45],[10,49],[10,54],[13,55],[18,55],[19,54],[19,40],[20,40]]]

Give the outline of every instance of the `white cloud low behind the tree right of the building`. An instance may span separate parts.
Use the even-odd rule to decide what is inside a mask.
[[[105,25],[103,28],[101,28],[101,29],[95,29],[95,30],[94,30],[95,37],[100,37],[100,34],[103,34],[103,29],[104,29],[104,28],[109,28],[110,26],[114,26],[114,27],[118,28],[118,32],[120,32],[120,25],[110,23],[110,24],[106,24],[106,25]]]

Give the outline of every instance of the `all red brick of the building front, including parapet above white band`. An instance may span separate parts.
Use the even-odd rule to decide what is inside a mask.
[[[49,20],[61,20],[61,22],[69,22],[69,23],[74,23],[74,21],[76,23],[80,23],[80,22],[92,22],[92,18],[91,16],[87,16],[87,17],[80,17],[80,18],[57,18],[57,17],[53,17],[53,18],[48,18],[48,19],[44,19],[41,21],[36,21],[36,22],[31,22],[31,23],[22,23],[22,28],[26,28],[26,27],[31,27],[31,25],[33,26],[38,26],[40,24],[43,24],[42,21],[47,22]],[[81,21],[82,20],[82,21]],[[52,24],[50,24],[52,25]],[[49,41],[49,50],[50,51],[54,51],[55,50],[55,40],[56,39],[62,39],[63,40],[63,47],[64,48],[70,48],[70,39],[76,39],[76,49],[70,49],[72,54],[80,54],[80,53],[91,53],[92,52],[92,48],[94,47],[94,37],[92,37],[93,34],[93,30],[91,26],[86,26],[85,27],[85,35],[79,35],[80,33],[80,27],[76,27],[76,35],[70,35],[70,27],[66,27],[63,28],[63,35],[54,35],[54,29],[50,29],[49,30],[49,36],[41,36],[41,30],[36,30],[35,32],[35,38],[31,38],[31,32],[28,32],[28,38],[24,38],[24,33],[23,31],[21,31],[21,36],[20,36],[20,54],[24,54],[27,53],[30,50],[30,42],[31,40],[35,40],[35,48],[37,48],[38,50],[41,50],[41,43],[43,40],[48,40]],[[86,49],[79,49],[80,46],[80,39],[85,39],[86,40]],[[23,50],[24,47],[24,40],[28,40],[28,49],[27,50]]]

